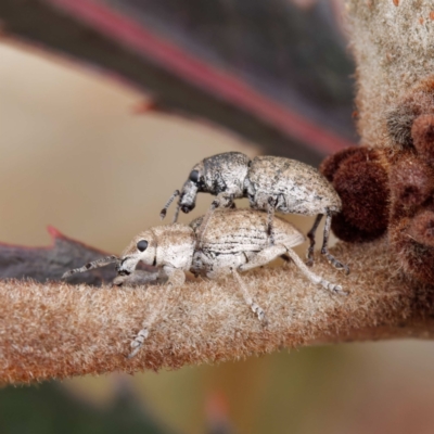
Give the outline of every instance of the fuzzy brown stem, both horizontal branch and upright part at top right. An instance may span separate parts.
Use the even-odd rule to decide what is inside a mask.
[[[431,0],[350,0],[346,8],[361,142],[388,146],[390,105],[434,71],[434,7]],[[349,276],[323,259],[314,270],[342,284],[347,296],[309,283],[292,264],[242,275],[268,326],[247,308],[233,278],[133,290],[2,281],[0,381],[132,373],[314,343],[434,336],[433,286],[405,277],[387,238],[342,243],[333,254]],[[131,340],[153,315],[143,347],[128,359]]]

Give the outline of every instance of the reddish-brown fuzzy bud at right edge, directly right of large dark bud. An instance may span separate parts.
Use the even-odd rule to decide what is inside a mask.
[[[434,173],[413,154],[406,154],[392,167],[390,184],[394,203],[421,205],[433,192]]]

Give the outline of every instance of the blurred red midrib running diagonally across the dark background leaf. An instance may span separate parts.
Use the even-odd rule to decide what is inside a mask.
[[[111,39],[145,55],[186,81],[201,87],[268,122],[279,130],[296,138],[323,154],[354,145],[340,136],[307,122],[295,112],[276,103],[241,80],[194,58],[179,47],[141,27],[132,18],[116,13],[93,0],[46,0]]]

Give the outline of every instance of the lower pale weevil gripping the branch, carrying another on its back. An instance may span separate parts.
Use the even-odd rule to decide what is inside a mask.
[[[268,242],[267,214],[252,209],[217,209],[203,234],[201,248],[196,248],[196,231],[205,216],[193,220],[189,226],[174,224],[157,226],[139,233],[132,239],[120,258],[110,256],[99,261],[89,263],[81,268],[67,271],[64,277],[86,271],[108,263],[117,264],[118,276],[115,285],[141,283],[137,265],[142,261],[161,269],[161,276],[168,279],[168,284],[181,286],[184,272],[190,270],[195,276],[209,279],[232,273],[242,291],[243,297],[260,321],[267,322],[264,309],[256,304],[239,271],[246,271],[270,263],[279,256],[291,258],[307,279],[334,293],[344,294],[342,286],[331,283],[310,271],[298,255],[291,248],[305,241],[303,233],[290,222],[276,217],[275,244]],[[148,283],[143,282],[143,283]],[[163,306],[164,297],[159,301]],[[151,312],[143,322],[143,329],[132,341],[135,356],[149,335],[159,308]]]

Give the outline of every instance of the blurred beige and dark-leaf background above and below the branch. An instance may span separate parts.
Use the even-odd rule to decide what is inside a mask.
[[[118,254],[205,156],[317,166],[357,143],[341,13],[326,0],[2,0],[0,241],[48,246],[52,225]],[[2,387],[0,433],[431,433],[433,379],[430,342],[283,349]]]

